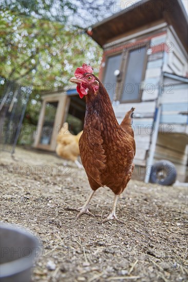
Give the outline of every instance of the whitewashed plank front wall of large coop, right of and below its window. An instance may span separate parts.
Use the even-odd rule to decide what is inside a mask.
[[[151,35],[150,35],[151,36]],[[144,38],[146,40],[147,38]],[[152,50],[148,52],[147,67],[143,80],[142,98],[139,103],[127,103],[114,106],[118,122],[121,123],[125,112],[131,107],[135,107],[135,118],[133,119],[133,128],[136,140],[136,156],[134,163],[145,166],[147,153],[151,144],[151,137],[155,131],[153,126],[156,111],[156,102],[159,93],[159,84],[163,63],[163,46],[166,33],[155,34],[151,38]]]

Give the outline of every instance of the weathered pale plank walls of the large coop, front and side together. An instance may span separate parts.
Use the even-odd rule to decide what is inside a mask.
[[[145,166],[152,135],[155,132],[156,108],[162,103],[159,134],[154,162],[159,159],[171,160],[178,171],[178,178],[185,180],[187,159],[187,84],[181,80],[163,77],[163,72],[187,76],[187,54],[171,26],[147,33],[148,37],[128,38],[128,42],[150,41],[145,77],[142,82],[142,97],[139,103],[114,103],[118,122],[121,123],[126,111],[135,107],[133,128],[136,140],[135,165]],[[126,44],[125,38],[124,44]],[[123,38],[122,41],[123,42]],[[103,56],[105,65],[105,55]],[[103,72],[101,69],[100,74]],[[162,95],[159,100],[159,94]],[[173,134],[173,135],[171,135]],[[173,136],[173,137],[172,137]]]

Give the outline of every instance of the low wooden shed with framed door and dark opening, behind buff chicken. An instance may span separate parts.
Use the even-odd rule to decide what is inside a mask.
[[[83,129],[85,100],[80,99],[74,88],[67,92],[58,91],[43,95],[42,99],[33,147],[55,151],[58,132],[64,122],[68,122],[72,134],[78,134]]]

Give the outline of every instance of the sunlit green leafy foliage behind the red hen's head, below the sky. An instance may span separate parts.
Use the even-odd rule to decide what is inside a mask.
[[[1,30],[1,75],[35,93],[63,88],[83,62],[99,70],[102,50],[81,29],[5,10]]]

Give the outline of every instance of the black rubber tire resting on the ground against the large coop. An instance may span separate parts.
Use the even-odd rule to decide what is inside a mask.
[[[157,172],[164,169],[166,171],[166,176],[163,180],[158,180]],[[169,160],[162,159],[159,162],[155,163],[152,166],[151,175],[150,175],[150,182],[151,183],[158,183],[160,185],[172,185],[175,183],[177,177],[176,168],[173,163]]]

